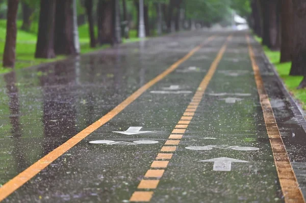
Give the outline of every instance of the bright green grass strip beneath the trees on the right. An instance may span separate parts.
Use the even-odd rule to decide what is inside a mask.
[[[255,36],[255,39],[261,43],[262,39]],[[304,110],[306,110],[306,90],[297,90],[297,86],[302,81],[303,76],[289,75],[291,69],[291,62],[279,63],[281,53],[279,51],[271,51],[268,47],[263,47],[270,62],[275,66],[278,75],[283,79],[287,89],[293,96],[301,103]]]

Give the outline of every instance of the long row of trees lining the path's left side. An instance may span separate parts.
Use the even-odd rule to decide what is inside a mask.
[[[0,0],[0,3],[4,1]],[[39,13],[35,57],[46,59],[58,54],[69,55],[80,52],[78,21],[79,24],[81,21],[87,21],[90,46],[95,47],[103,44],[119,44],[122,42],[122,35],[129,38],[129,26],[133,15],[136,16],[137,35],[143,38],[149,36],[155,28],[160,35],[163,32],[180,31],[183,27],[194,29],[195,23],[200,26],[211,26],[220,21],[225,24],[231,23],[228,19],[231,17],[232,8],[237,8],[242,13],[247,13],[249,8],[248,0],[6,1],[8,9],[4,67],[14,67],[15,63],[16,19],[19,3],[22,5],[22,30],[29,30],[34,11]],[[85,10],[84,14],[78,11],[80,5]],[[134,10],[129,10],[131,7]],[[122,24],[126,25],[124,29]]]

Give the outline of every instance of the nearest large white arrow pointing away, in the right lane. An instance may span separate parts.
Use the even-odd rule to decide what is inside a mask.
[[[213,170],[215,171],[231,171],[232,162],[247,163],[248,161],[232,159],[227,157],[219,157],[215,159],[201,160],[199,162],[214,162]]]

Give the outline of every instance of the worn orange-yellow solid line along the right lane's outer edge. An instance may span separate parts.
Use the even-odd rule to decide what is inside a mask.
[[[282,187],[282,192],[285,197],[285,202],[304,203],[305,199],[299,188],[295,177],[294,170],[290,163],[290,159],[285,148],[281,133],[279,132],[273,109],[269,101],[269,96],[265,90],[264,82],[260,74],[259,67],[256,63],[254,52],[250,44],[249,36],[246,36],[248,43],[249,56],[254,71],[257,90],[260,98],[260,103],[264,113],[264,119],[270,144],[273,152],[274,162],[277,170],[279,183]]]

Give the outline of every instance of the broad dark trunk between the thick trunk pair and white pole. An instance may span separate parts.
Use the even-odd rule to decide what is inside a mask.
[[[114,1],[100,0],[98,3],[98,42],[99,44],[114,44]]]

